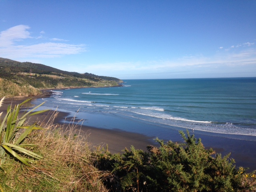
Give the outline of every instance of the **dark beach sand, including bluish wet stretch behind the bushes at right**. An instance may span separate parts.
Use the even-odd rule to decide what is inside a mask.
[[[44,93],[40,97],[47,97],[48,94]],[[36,99],[33,97],[33,99]],[[12,106],[15,104],[19,104],[24,101],[25,98],[8,98],[4,100],[4,104],[0,108],[0,112],[6,112],[7,106],[12,103]],[[30,104],[26,104],[25,107],[30,107]],[[46,112],[43,115],[37,115],[31,119],[31,121],[44,121],[47,122],[49,117],[51,116],[53,111]],[[3,118],[4,114],[2,114]],[[68,113],[58,112],[57,118],[54,120],[54,124],[59,124],[61,126],[68,127],[69,121],[65,124],[60,123],[64,120]],[[78,120],[74,121],[76,124]],[[85,137],[88,142],[92,143],[93,146],[103,146],[106,148],[106,144],[108,144],[108,149],[112,153],[122,152],[125,148],[130,148],[133,145],[136,149],[146,150],[146,146],[148,145],[156,145],[154,142],[154,138],[150,138],[143,134],[124,132],[122,130],[109,130],[103,128],[95,128],[89,126],[77,126],[78,129],[85,133]],[[234,158],[236,161],[236,166],[249,167],[250,171],[256,170],[256,141],[247,141],[247,140],[239,140],[239,139],[231,139],[224,138],[221,136],[208,136],[202,134],[202,132],[194,131],[196,138],[201,138],[202,143],[206,148],[213,148],[216,152],[221,153],[222,156],[231,152],[231,158]],[[182,142],[182,138],[180,134],[178,134],[177,130],[173,130],[172,134],[170,134],[170,140],[174,142]]]

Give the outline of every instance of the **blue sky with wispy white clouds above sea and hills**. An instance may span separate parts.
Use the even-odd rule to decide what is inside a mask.
[[[120,79],[256,76],[255,0],[0,0],[0,57]]]

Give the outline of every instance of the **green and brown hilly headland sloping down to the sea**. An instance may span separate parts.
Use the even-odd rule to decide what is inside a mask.
[[[67,72],[43,64],[0,58],[0,97],[33,96],[39,89],[118,86],[122,80]]]

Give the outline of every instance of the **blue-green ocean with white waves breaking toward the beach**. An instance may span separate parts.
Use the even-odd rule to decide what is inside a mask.
[[[256,78],[124,80],[124,86],[52,90],[42,108],[69,112],[79,123],[164,140],[190,130],[256,140]]]

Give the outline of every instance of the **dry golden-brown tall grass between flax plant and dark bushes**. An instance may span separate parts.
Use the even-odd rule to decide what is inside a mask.
[[[48,121],[38,122],[43,129],[22,141],[24,146],[35,144],[30,150],[42,156],[40,160],[30,161],[29,166],[16,158],[5,161],[5,172],[0,171],[2,191],[107,191],[101,182],[102,172],[93,166],[95,157],[86,134],[74,123],[67,128],[54,125],[56,116],[57,112]]]

